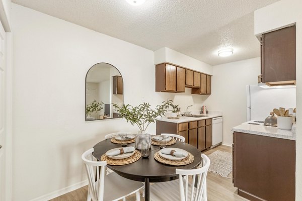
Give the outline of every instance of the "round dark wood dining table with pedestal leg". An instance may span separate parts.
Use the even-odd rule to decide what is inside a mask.
[[[134,143],[127,145],[135,147]],[[101,156],[105,154],[108,150],[113,148],[122,147],[120,144],[114,144],[110,139],[103,140],[96,144],[94,148],[93,155],[98,160],[101,159]],[[154,154],[160,151],[159,146],[152,145],[149,149],[149,157],[148,158],[140,158],[139,160],[127,164],[127,165],[108,165],[107,167],[122,177],[127,179],[142,181],[144,182],[144,190],[145,190],[145,200],[150,200],[150,182],[164,182],[171,181],[174,179],[178,179],[178,175],[175,173],[177,168],[179,169],[194,169],[201,163],[201,152],[194,146],[185,143],[176,141],[174,145],[166,146],[175,147],[184,149],[190,152],[194,156],[194,161],[188,165],[183,166],[173,166],[163,164],[158,162],[154,158]]]

